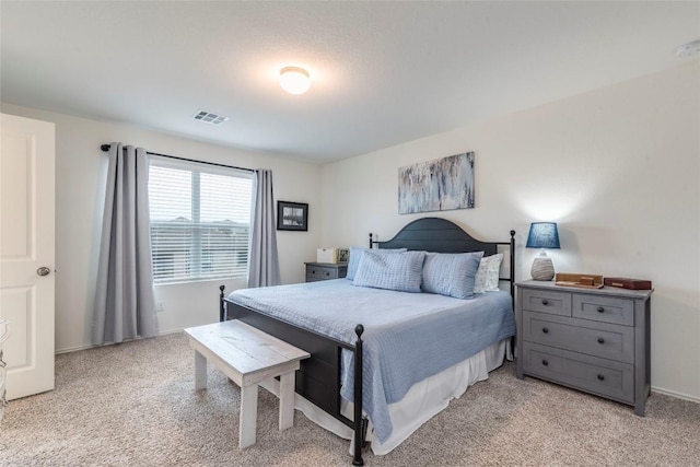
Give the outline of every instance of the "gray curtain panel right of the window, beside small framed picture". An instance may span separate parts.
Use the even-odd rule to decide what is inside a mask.
[[[250,260],[248,287],[279,285],[280,261],[277,255],[272,171],[255,171],[255,198],[250,210]]]

